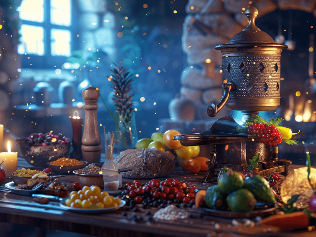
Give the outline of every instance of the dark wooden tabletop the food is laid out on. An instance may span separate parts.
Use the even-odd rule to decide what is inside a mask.
[[[19,158],[19,166],[29,167],[29,165]],[[294,168],[294,166],[292,166]],[[197,183],[198,188],[207,188],[201,183],[205,173],[186,173],[181,169],[176,169],[175,172],[168,177],[185,180]],[[63,180],[73,183],[74,175],[67,175]],[[11,181],[7,179],[6,181]],[[130,179],[124,179],[123,182],[129,182]],[[145,180],[146,181],[146,180]],[[139,207],[139,212],[126,211],[127,216],[122,216],[125,207],[102,214],[78,214],[64,210],[59,206],[58,202],[49,202],[49,204],[38,204],[32,201],[32,197],[19,196],[13,193],[4,192],[5,188],[0,187],[0,221],[6,223],[28,225],[37,228],[48,228],[63,231],[71,231],[82,234],[91,234],[96,236],[280,236],[280,237],[312,237],[316,235],[316,231],[296,231],[296,232],[277,232],[277,228],[271,228],[267,232],[266,227],[255,228],[239,228],[231,227],[232,219],[219,218],[212,216],[204,216],[199,218],[199,212],[192,208],[187,208],[187,211],[194,218],[171,221],[147,221],[146,211],[151,212],[151,216],[157,210],[156,208],[142,209]],[[136,214],[142,216],[143,221],[135,222],[130,220],[131,215]],[[219,223],[221,230],[215,229],[215,223]],[[0,230],[1,231],[1,230]],[[276,233],[277,232],[277,233]],[[223,235],[223,233],[225,235]]]

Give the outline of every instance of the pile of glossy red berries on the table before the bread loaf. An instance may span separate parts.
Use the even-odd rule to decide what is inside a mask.
[[[135,203],[147,203],[149,200],[168,199],[178,203],[194,203],[196,185],[168,178],[160,181],[153,179],[149,183],[142,184],[139,180],[124,185],[126,191],[122,192],[122,199],[131,199]]]

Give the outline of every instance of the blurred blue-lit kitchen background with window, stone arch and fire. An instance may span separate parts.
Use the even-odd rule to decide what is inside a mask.
[[[2,0],[0,123],[17,137],[53,131],[71,139],[69,116],[85,115],[83,89],[99,88],[115,111],[110,69],[120,61],[134,76],[135,141],[168,129],[203,132],[225,115],[238,120],[240,112],[224,108],[209,118],[206,109],[222,97],[222,54],[214,47],[246,27],[251,5],[256,25],[289,46],[281,105],[260,115],[301,130],[299,145],[282,143],[279,157],[304,164],[309,151],[315,165],[316,0]],[[113,131],[115,123],[98,104],[103,145],[103,126]]]

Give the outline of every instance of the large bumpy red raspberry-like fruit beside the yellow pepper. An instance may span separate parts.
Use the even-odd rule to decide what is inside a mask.
[[[257,137],[261,138],[260,142],[267,145],[275,146],[282,142],[280,131],[272,124],[251,124],[248,126],[248,133],[257,134]]]

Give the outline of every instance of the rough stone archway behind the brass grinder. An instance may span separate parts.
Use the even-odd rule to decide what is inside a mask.
[[[196,120],[209,118],[207,106],[222,97],[222,53],[214,47],[226,44],[247,26],[244,11],[249,6],[258,9],[258,18],[276,9],[301,10],[316,17],[316,0],[189,0],[182,35],[189,66],[181,75],[180,94],[195,103]]]

